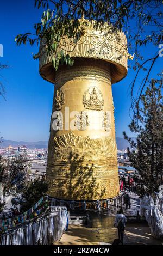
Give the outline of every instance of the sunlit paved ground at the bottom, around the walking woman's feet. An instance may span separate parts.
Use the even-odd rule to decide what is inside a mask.
[[[116,228],[86,228],[70,225],[57,245],[112,245],[117,238]],[[148,227],[129,227],[124,233],[124,245],[161,245],[152,237]]]

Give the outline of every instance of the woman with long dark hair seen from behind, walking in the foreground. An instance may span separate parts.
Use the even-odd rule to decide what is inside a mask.
[[[120,211],[116,215],[114,227],[116,226],[118,229],[118,239],[121,240],[123,245],[123,236],[124,236],[124,228],[126,223],[126,217],[123,214],[123,209],[120,208]]]

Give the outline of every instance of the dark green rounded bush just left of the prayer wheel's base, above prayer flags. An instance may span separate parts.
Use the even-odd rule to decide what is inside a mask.
[[[21,212],[30,209],[48,190],[48,184],[44,177],[37,178],[23,188],[21,197]]]

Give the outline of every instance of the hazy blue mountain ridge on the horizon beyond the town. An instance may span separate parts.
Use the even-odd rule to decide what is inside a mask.
[[[132,137],[135,141],[135,137]],[[127,149],[130,144],[126,141],[126,139],[116,137],[117,149]],[[11,141],[7,139],[2,139],[0,143],[0,147],[7,148],[9,146],[18,147],[20,145],[26,145],[27,148],[38,148],[38,149],[46,149],[48,147],[48,141],[38,141],[38,142],[26,142],[26,141]]]

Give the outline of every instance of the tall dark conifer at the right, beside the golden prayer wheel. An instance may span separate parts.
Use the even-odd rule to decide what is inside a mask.
[[[128,156],[136,169],[135,181],[140,196],[157,192],[163,181],[162,84],[156,86],[156,82],[152,80],[145,94],[141,96],[141,106],[137,108],[136,119],[129,125],[131,132],[137,133],[136,143],[123,132],[131,148],[136,148],[128,148]]]

